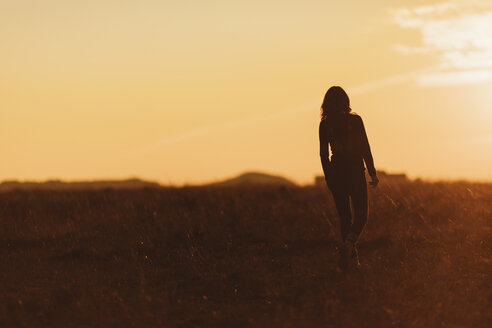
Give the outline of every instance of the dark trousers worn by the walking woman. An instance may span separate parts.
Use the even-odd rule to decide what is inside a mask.
[[[334,169],[333,184],[330,187],[338,215],[342,239],[350,234],[357,241],[367,223],[367,183],[364,169],[338,166]],[[353,220],[352,211],[353,208]]]

